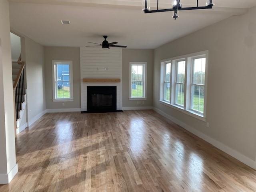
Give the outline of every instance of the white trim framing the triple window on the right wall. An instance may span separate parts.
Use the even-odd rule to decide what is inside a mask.
[[[196,110],[191,109],[190,100],[191,100],[191,81],[192,81],[192,60],[195,58],[206,58],[206,66],[205,66],[205,80],[204,80],[204,113],[197,112]],[[161,75],[160,75],[160,104],[183,112],[189,116],[197,118],[206,122],[206,103],[207,103],[207,81],[208,81],[208,58],[209,52],[208,50],[202,52],[196,52],[192,54],[187,54],[183,56],[178,56],[174,58],[167,58],[161,60]],[[185,83],[184,83],[184,106],[180,106],[175,104],[175,82],[176,82],[176,63],[177,61],[185,60],[186,61],[186,69],[185,69]],[[170,102],[164,100],[164,66],[166,63],[171,63],[171,97]]]

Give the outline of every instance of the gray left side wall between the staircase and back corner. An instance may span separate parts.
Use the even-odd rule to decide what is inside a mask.
[[[28,94],[28,122],[46,110],[44,47],[25,37],[25,62]],[[23,50],[23,49],[22,49]],[[24,53],[22,53],[24,60]]]

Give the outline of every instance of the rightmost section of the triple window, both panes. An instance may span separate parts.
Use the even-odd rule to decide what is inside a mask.
[[[192,61],[191,109],[203,114],[206,58],[193,58]]]

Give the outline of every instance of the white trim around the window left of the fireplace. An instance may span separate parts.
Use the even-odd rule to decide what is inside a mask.
[[[56,64],[68,63],[70,66],[70,98],[56,98]],[[52,60],[52,101],[53,102],[73,102],[73,61]]]

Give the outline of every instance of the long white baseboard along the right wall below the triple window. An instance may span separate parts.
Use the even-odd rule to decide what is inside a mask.
[[[153,110],[156,111],[158,114],[164,116],[168,120],[171,120],[172,122],[178,124],[179,126],[183,127],[184,129],[188,130],[189,132],[193,133],[194,135],[196,135],[196,136],[200,137],[201,139],[205,140],[206,142],[212,144],[216,148],[218,148],[218,149],[222,150],[223,152],[229,154],[230,156],[236,158],[240,162],[248,165],[249,167],[251,167],[253,169],[256,169],[256,162],[254,160],[244,156],[240,152],[226,146],[225,144],[223,144],[223,143],[221,143],[221,142],[203,134],[202,132],[199,132],[195,128],[192,128],[191,126],[185,124],[184,122],[181,122],[180,120],[170,116],[169,114],[163,112],[162,110],[160,110],[158,108],[153,108]]]

